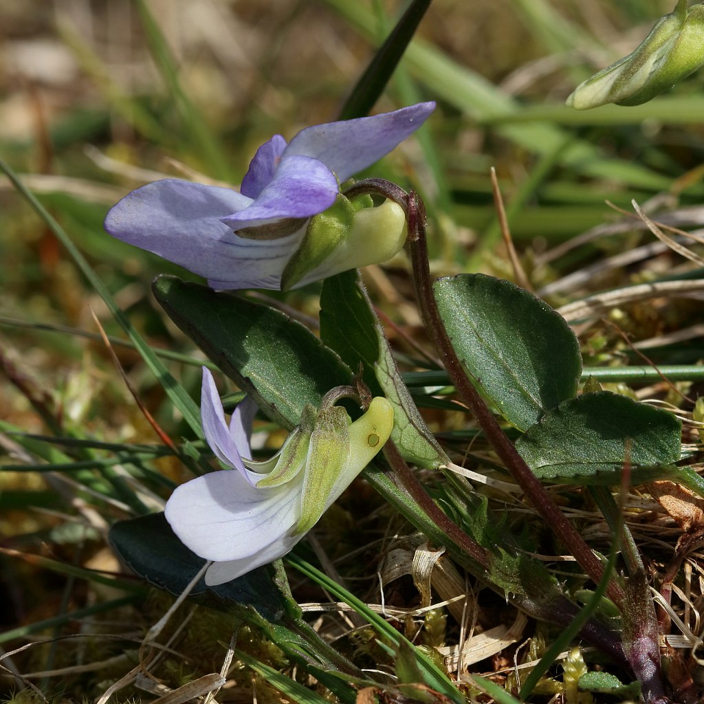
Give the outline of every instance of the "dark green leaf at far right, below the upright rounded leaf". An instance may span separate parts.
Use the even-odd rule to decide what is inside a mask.
[[[676,476],[676,467],[657,465],[679,460],[680,433],[672,413],[599,391],[560,403],[516,448],[540,479],[618,484],[629,463],[634,481],[643,482]]]

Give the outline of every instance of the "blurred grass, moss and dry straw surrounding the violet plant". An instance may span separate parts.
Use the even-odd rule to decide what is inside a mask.
[[[402,8],[380,0],[0,1],[0,155],[68,231],[194,398],[202,355],[166,320],[149,289],[154,275],[176,268],[108,237],[102,230],[107,209],[130,189],[169,175],[237,184],[271,134],[291,137],[335,119]],[[697,241],[679,244],[683,256],[656,240],[633,217],[631,200],[668,225],[694,234],[704,227],[704,75],[636,108],[578,113],[562,104],[576,84],[631,51],[671,10],[665,2],[638,0],[435,0],[375,111],[426,99],[438,101],[438,109],[417,138],[372,172],[425,199],[435,275],[483,271],[523,283],[501,241],[490,180],[496,168],[530,287],[555,308],[565,306],[585,364],[613,370],[585,376],[584,384],[676,409],[696,466],[700,416],[693,401],[702,375],[692,367],[704,356],[704,261]],[[175,441],[189,431],[54,233],[5,179],[0,277],[0,646],[65,634],[106,636],[29,648],[2,665],[34,672],[30,680],[57,701],[97,698],[137,665],[144,631],[172,601],[125,573],[106,531],[119,518],[161,508],[169,487],[189,474],[155,445],[160,440],[93,316],[119,338],[113,349],[120,366],[158,424]],[[407,260],[370,268],[364,279],[403,371],[432,369]],[[667,285],[658,296],[629,289],[623,298],[592,300],[591,308],[579,303],[643,283]],[[287,310],[303,320],[315,317],[318,290],[287,296]],[[652,364],[665,365],[667,378]],[[629,366],[650,370],[636,370],[634,381],[622,372]],[[444,383],[419,387],[423,413],[455,461],[467,457],[467,467],[486,473],[492,466],[486,446],[474,441],[471,419],[453,406]],[[258,424],[260,447],[276,448],[282,437]],[[627,522],[650,572],[662,579],[674,569],[673,608],[698,634],[703,505],[665,493],[674,496],[669,506],[656,501],[655,490],[633,489]],[[492,500],[518,532],[531,536],[536,553],[555,555],[548,530],[520,497]],[[560,500],[590,545],[608,553],[610,530],[593,506],[576,490]],[[684,552],[683,541],[689,541]],[[499,650],[481,650],[477,641],[478,655],[465,648],[447,665],[460,681],[468,671],[496,672],[496,681],[510,689],[513,665],[538,658],[554,634],[496,596],[483,592],[477,601],[477,585],[449,560],[448,581],[432,584],[432,603],[448,603],[417,611],[429,605],[413,567],[423,542],[358,482],[301,551],[367,603],[384,603],[406,635],[448,657],[458,643],[502,627],[495,634]],[[562,575],[559,561],[548,564]],[[321,606],[338,600],[310,580],[296,577],[292,584],[322,635],[338,639],[365,667],[384,670],[389,656],[363,620]],[[222,641],[234,624],[206,609],[189,618],[189,627],[172,633],[174,650],[156,670],[161,687],[175,689],[220,669]],[[241,630],[238,648],[313,691],[312,681],[256,630]],[[695,660],[689,666],[698,667]],[[219,700],[249,700],[253,688],[258,698],[277,700],[265,672],[237,667]],[[151,700],[168,691],[137,684],[119,696]],[[6,697],[21,686],[11,677],[0,681]],[[577,701],[559,667],[541,686],[536,700],[559,694]]]

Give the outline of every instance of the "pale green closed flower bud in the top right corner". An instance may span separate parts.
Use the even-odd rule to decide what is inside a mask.
[[[640,105],[704,65],[704,4],[688,8],[687,1],[679,0],[632,54],[579,84],[567,105]]]

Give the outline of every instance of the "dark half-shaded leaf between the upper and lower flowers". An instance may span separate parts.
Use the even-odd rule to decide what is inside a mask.
[[[171,276],[158,277],[153,291],[176,325],[284,427],[298,425],[306,403],[318,407],[329,389],[350,383],[339,357],[279,310]]]

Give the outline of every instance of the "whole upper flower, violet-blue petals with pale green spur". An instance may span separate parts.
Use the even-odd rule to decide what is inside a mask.
[[[157,181],[113,206],[105,229],[205,277],[214,289],[294,288],[378,263],[406,241],[403,211],[389,201],[376,208],[370,199],[346,201],[339,184],[389,153],[434,108],[432,102],[418,103],[370,118],[315,125],[288,144],[275,134],[254,155],[239,193]],[[325,221],[317,222],[317,230],[311,227],[333,206],[332,230]],[[301,247],[318,258],[310,263],[307,256],[298,257],[282,282]],[[344,252],[337,254],[340,248]]]

